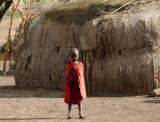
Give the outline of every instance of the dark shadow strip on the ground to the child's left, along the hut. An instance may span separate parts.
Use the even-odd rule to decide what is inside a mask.
[[[53,89],[17,88],[14,85],[0,86],[0,98],[62,98],[63,91]]]

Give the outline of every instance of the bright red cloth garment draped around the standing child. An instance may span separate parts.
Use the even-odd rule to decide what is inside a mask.
[[[79,104],[86,97],[83,74],[83,64],[66,65],[66,82],[64,101],[69,104]]]

